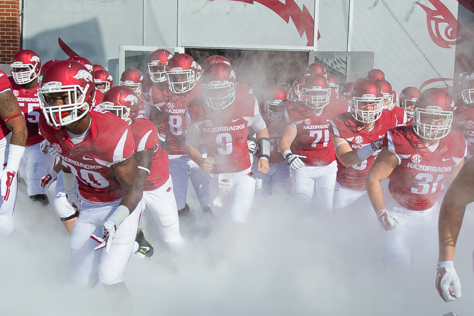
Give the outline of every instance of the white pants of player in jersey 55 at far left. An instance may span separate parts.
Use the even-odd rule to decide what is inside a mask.
[[[25,147],[18,173],[27,182],[29,196],[47,194],[48,189],[41,188],[40,181],[42,177],[51,172],[54,164],[54,157],[41,152],[40,143]]]

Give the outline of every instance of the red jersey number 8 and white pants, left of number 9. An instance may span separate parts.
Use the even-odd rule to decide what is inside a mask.
[[[199,82],[185,96],[174,94],[168,88],[160,89],[153,86],[150,90],[151,104],[163,112],[162,122],[166,135],[164,145],[169,153],[169,170],[178,209],[186,205],[188,179],[191,179],[201,206],[209,206],[205,173],[190,159],[185,144],[186,107],[191,100],[200,96]]]

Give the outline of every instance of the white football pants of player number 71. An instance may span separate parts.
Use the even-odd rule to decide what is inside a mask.
[[[291,170],[292,195],[297,203],[318,205],[324,213],[332,212],[332,199],[336,182],[337,164],[335,161],[327,166],[304,165],[300,170]],[[317,197],[314,197],[314,192]]]

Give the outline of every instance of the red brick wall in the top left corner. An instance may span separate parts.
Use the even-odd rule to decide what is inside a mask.
[[[20,2],[0,0],[0,64],[10,64],[20,50]]]

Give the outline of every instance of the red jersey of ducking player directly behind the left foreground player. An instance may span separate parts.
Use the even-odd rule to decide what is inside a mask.
[[[160,148],[158,144],[158,131],[156,126],[146,118],[136,119],[130,126],[131,134],[135,141],[135,151],[153,149],[158,146],[153,152],[153,161],[150,168],[150,173],[143,184],[143,191],[151,191],[160,188],[170,177],[168,171],[168,154]]]

